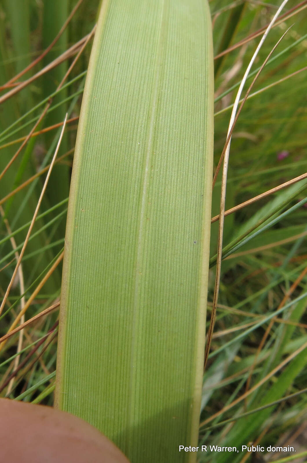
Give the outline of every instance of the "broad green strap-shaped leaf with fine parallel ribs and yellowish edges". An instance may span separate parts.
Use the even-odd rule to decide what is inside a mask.
[[[103,1],[65,238],[58,407],[133,463],[195,461],[213,59],[204,0]]]

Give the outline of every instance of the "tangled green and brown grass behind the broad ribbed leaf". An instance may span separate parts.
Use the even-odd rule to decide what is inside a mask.
[[[51,161],[68,112],[58,161],[26,246],[21,272],[0,315],[0,335],[5,336],[13,323],[19,323],[19,319],[15,320],[21,307],[28,307],[26,319],[30,319],[56,306],[22,332],[8,337],[1,345],[0,359],[2,397],[50,406],[67,198],[91,39],[62,89],[54,92],[84,43],[83,38],[93,30],[99,6],[98,0],[79,3],[52,49],[25,74],[18,75],[41,57],[77,0],[0,2],[2,295],[12,277],[42,189],[45,167]],[[224,148],[237,87],[261,37],[257,32],[269,24],[278,6],[276,2],[258,0],[210,2],[215,52],[215,169]],[[306,1],[289,0],[252,68],[254,71],[261,66],[292,25],[257,79],[252,89],[255,95],[246,101],[235,126],[226,209],[306,172],[306,8]],[[63,55],[67,50],[70,52]],[[38,75],[53,60],[57,65]],[[27,85],[13,93],[23,81]],[[35,133],[6,169],[50,101]],[[240,447],[253,442],[265,448],[292,445],[297,454],[303,453],[306,458],[306,187],[307,180],[295,182],[225,218],[225,251],[216,325],[204,375],[200,443]],[[219,213],[220,189],[219,174],[213,188],[212,217]],[[212,223],[208,327],[215,285],[217,227],[217,221]],[[245,239],[251,235],[251,239]],[[268,404],[272,405],[253,412]],[[247,415],[242,417],[244,413]],[[301,461],[305,461],[303,454]],[[232,455],[231,461],[279,461],[287,455],[240,453]],[[230,461],[227,453],[208,452],[199,458],[201,462]]]

